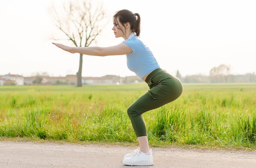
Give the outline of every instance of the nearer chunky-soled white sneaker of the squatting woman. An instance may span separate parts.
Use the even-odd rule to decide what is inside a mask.
[[[137,153],[132,155],[131,157],[126,157],[123,160],[123,164],[128,166],[150,166],[153,165],[153,156],[152,151],[150,149],[149,155],[141,152],[139,149]]]

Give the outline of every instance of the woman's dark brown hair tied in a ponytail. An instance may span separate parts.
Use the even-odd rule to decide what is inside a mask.
[[[137,17],[136,17],[137,16]],[[127,9],[123,9],[121,11],[117,11],[113,17],[114,24],[118,25],[117,19],[121,22],[121,24],[130,23],[130,28],[133,32],[139,36],[140,34],[140,16],[139,13],[132,13]],[[120,28],[118,28],[120,29]],[[121,30],[121,29],[120,29]],[[123,32],[125,34],[125,32]]]

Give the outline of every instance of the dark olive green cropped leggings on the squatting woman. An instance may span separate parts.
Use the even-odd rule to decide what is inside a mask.
[[[183,86],[179,79],[158,68],[147,78],[149,90],[139,97],[127,109],[128,116],[137,137],[147,136],[147,128],[142,114],[156,109],[180,97]]]

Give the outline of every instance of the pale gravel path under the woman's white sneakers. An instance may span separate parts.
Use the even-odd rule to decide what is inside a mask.
[[[0,168],[130,168],[134,147],[0,141]],[[152,148],[154,165],[136,168],[256,168],[256,151]]]

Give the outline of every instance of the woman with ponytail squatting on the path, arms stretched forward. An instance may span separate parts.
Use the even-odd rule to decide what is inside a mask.
[[[153,53],[138,38],[140,15],[126,9],[117,11],[113,17],[115,37],[125,41],[110,47],[69,47],[53,43],[71,52],[93,56],[126,55],[128,68],[137,74],[150,88],[127,109],[139,147],[124,156],[123,164],[130,166],[153,165],[152,150],[148,146],[145,121],[142,114],[177,99],[183,92],[182,83],[158,65]]]

